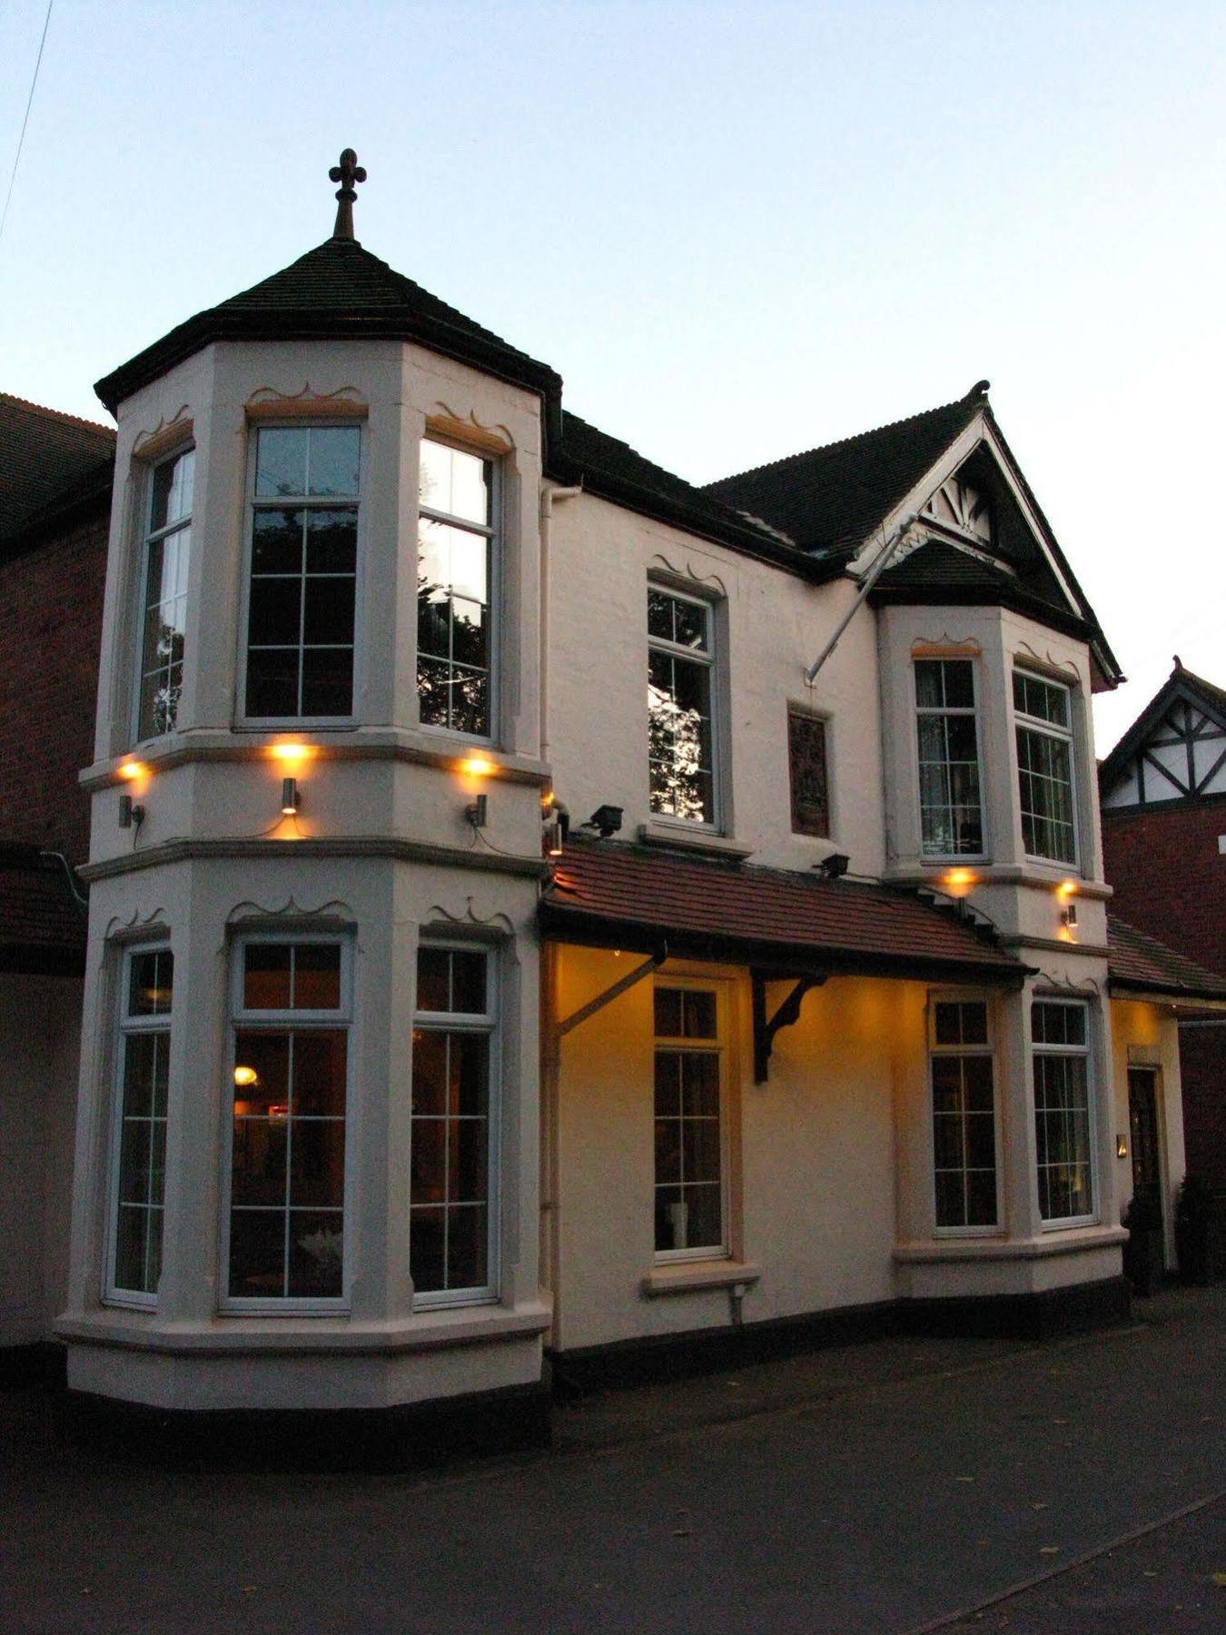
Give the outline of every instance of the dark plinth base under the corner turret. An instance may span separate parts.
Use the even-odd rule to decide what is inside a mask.
[[[397,1472],[548,1447],[548,1383],[404,1408],[162,1409],[65,1391],[67,1442],[175,1470]]]

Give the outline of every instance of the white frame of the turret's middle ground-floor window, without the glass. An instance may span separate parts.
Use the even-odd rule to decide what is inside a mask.
[[[244,953],[253,945],[304,947],[309,943],[340,943],[340,1007],[337,1010],[248,1010],[244,1004]],[[237,1061],[239,1028],[258,1032],[266,1028],[343,1027],[345,1043],[345,1184],[342,1195],[343,1261],[340,1295],[335,1298],[278,1295],[230,1295],[230,1198],[234,1190],[234,1068]],[[355,1141],[353,1141],[353,1063],[356,1058],[356,1019],[353,1010],[353,934],[345,927],[335,930],[250,930],[240,932],[230,943],[229,1015],[226,1019],[226,1100],[222,1104],[222,1184],[217,1265],[217,1310],[229,1315],[296,1316],[301,1313],[333,1315],[348,1311],[353,1261],[350,1252],[350,1226],[355,1200]]]

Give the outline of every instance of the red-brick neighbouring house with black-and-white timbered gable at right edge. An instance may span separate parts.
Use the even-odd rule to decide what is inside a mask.
[[[1175,659],[1098,768],[1113,906],[1226,978],[1226,692]],[[1226,1189],[1226,1015],[1180,1017],[1188,1171]]]

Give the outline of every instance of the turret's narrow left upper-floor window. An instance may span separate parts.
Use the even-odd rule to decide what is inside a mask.
[[[154,466],[141,567],[141,680],[136,736],[173,732],[183,688],[195,448]]]

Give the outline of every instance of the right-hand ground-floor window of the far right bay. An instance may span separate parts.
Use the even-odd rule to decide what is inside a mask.
[[[1046,1230],[1098,1220],[1097,1095],[1085,999],[1030,1007],[1038,1212]]]

